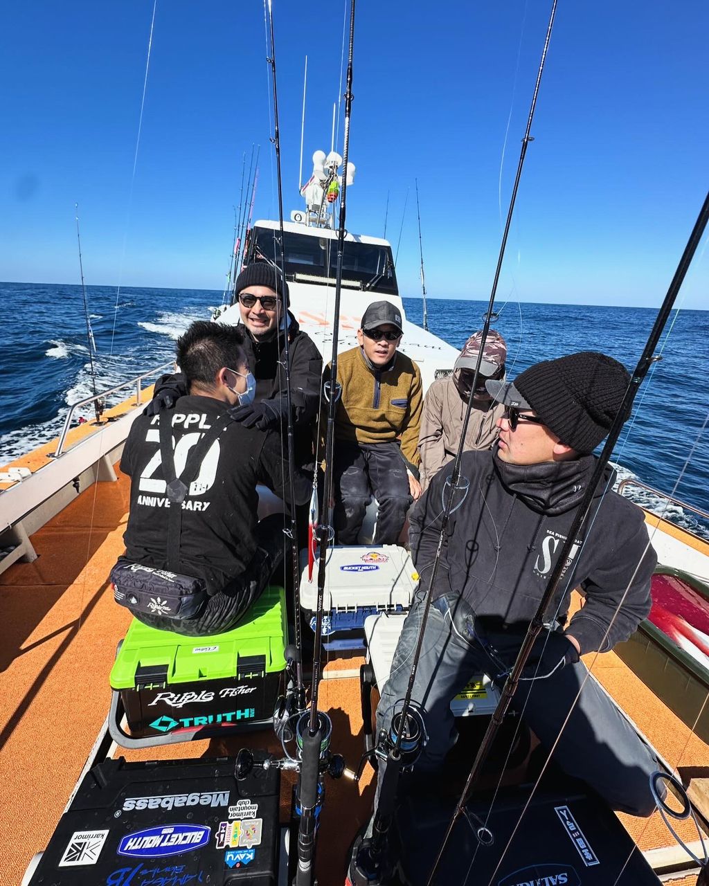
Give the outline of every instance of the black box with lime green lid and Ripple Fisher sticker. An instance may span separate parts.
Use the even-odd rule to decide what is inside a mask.
[[[285,668],[285,619],[282,587],[267,587],[225,633],[185,637],[134,618],[110,678],[130,740],[149,746],[270,725]],[[131,747],[109,722],[115,741]]]

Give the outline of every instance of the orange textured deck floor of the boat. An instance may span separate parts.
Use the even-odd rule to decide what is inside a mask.
[[[49,841],[103,726],[108,674],[130,620],[129,612],[113,602],[107,581],[123,549],[128,508],[129,482],[122,475],[116,483],[90,486],[33,535],[39,555],[34,563],[15,563],[0,575],[0,828],[5,835],[0,886],[17,886],[29,860]],[[339,664],[351,673],[360,662]],[[588,656],[587,664],[671,765],[693,778],[709,777],[707,745],[618,657]],[[326,675],[331,677],[337,667],[338,662],[328,664]],[[355,767],[362,753],[359,680],[323,680],[320,699],[332,719],[332,750]],[[261,732],[116,754],[127,759],[221,756],[264,744],[277,750],[273,734]],[[317,851],[322,886],[344,880],[347,847],[371,808],[370,772],[359,785],[328,781]],[[283,791],[284,817],[288,793]],[[619,817],[641,849],[674,845],[657,813],[649,820]],[[688,822],[679,824],[685,840],[697,839]],[[689,886],[696,876],[673,882]]]

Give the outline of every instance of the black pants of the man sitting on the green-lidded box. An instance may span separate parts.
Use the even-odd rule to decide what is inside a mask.
[[[236,627],[246,610],[261,596],[272,572],[283,559],[283,526],[283,514],[269,514],[269,517],[261,520],[256,526],[256,550],[251,563],[221,591],[208,597],[204,608],[195,618],[166,618],[144,612],[133,614],[145,625],[182,633],[187,637],[223,633]]]

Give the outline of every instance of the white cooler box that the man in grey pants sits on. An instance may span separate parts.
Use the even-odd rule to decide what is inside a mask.
[[[367,660],[370,662],[379,691],[389,679],[393,654],[404,624],[405,615],[373,615],[364,622]],[[471,677],[470,682],[450,703],[456,717],[491,714],[500,700],[500,692],[487,674]]]

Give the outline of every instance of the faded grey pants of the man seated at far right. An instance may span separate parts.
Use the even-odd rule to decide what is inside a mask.
[[[424,592],[419,590],[382,690],[378,730],[388,729],[394,708],[401,708],[423,610]],[[419,771],[440,766],[456,742],[451,699],[471,676],[483,672],[502,687],[505,671],[517,657],[520,644],[519,633],[489,628],[483,632],[464,601],[443,596],[432,603],[413,692],[427,733],[416,764]],[[588,782],[613,809],[650,815],[655,803],[649,777],[659,768],[658,761],[594,680],[586,680],[574,705],[587,674],[586,665],[579,662],[547,678],[520,682],[511,707],[522,715],[545,748],[552,747],[563,727],[553,758],[565,773]],[[381,771],[379,775],[381,781]]]

